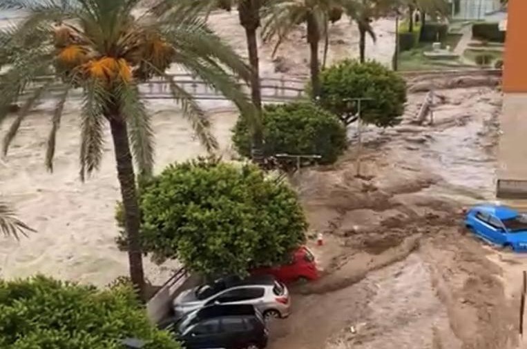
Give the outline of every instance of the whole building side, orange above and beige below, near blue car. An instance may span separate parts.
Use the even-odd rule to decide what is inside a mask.
[[[508,1],[497,197],[527,199],[527,0]]]

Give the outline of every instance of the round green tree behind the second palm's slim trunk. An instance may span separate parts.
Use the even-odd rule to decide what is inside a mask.
[[[334,163],[347,147],[346,129],[330,112],[313,103],[265,106],[262,113],[264,154],[320,155],[320,163]],[[233,129],[232,141],[240,154],[251,154],[251,135],[244,118]]]

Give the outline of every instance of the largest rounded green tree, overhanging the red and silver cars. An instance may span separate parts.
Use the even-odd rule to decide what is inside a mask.
[[[285,261],[307,229],[287,184],[252,164],[213,159],[168,166],[142,188],[140,208],[143,251],[206,276]]]

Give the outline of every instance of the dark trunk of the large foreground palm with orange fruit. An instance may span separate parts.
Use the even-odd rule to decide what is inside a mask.
[[[132,154],[128,143],[128,130],[122,117],[110,115],[115,161],[117,162],[117,179],[121,186],[121,196],[124,206],[124,224],[128,237],[128,264],[133,285],[143,301],[145,299],[145,285],[143,259],[140,243],[140,211],[137,203],[135,175],[133,172]]]

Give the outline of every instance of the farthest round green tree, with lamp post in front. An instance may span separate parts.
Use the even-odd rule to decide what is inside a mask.
[[[394,126],[401,121],[406,102],[404,79],[381,63],[346,59],[320,73],[320,106],[336,114],[345,124],[356,119],[362,101],[361,117],[365,123],[379,127]]]

